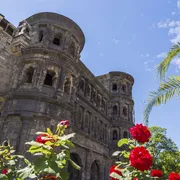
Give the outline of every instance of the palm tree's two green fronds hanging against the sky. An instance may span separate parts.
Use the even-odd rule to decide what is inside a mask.
[[[180,76],[165,77],[171,61],[178,55],[180,55],[180,43],[175,44],[166,58],[157,66],[157,74],[161,82],[156,91],[150,92],[146,101],[143,112],[146,125],[148,125],[149,114],[154,106],[166,104],[175,95],[180,95]]]

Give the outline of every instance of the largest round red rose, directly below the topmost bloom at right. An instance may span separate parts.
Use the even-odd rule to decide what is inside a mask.
[[[135,147],[129,156],[131,166],[140,171],[149,170],[152,166],[152,156],[145,147]]]

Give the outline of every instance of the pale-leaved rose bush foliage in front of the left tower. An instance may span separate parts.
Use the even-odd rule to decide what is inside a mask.
[[[70,141],[74,133],[65,135],[65,127],[58,125],[55,134],[47,128],[47,132],[38,132],[40,141],[27,142],[30,146],[28,152],[34,157],[30,162],[21,155],[14,153],[13,147],[0,146],[0,170],[8,168],[8,173],[0,176],[0,179],[47,179],[53,176],[57,180],[68,180],[67,164],[80,170],[80,167],[71,159],[70,149],[74,147]],[[25,166],[17,168],[16,159],[24,159]]]

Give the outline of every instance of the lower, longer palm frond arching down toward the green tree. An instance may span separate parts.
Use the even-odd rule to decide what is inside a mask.
[[[175,95],[180,95],[180,76],[172,76],[164,80],[157,91],[150,92],[143,111],[144,123],[148,125],[149,114],[154,106],[166,104]]]

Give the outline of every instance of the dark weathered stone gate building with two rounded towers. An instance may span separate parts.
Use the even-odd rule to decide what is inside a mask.
[[[70,120],[82,167],[69,167],[70,180],[108,180],[117,140],[133,125],[132,86],[124,72],[95,77],[80,60],[85,37],[71,19],[38,13],[14,27],[0,15],[0,140],[17,152],[35,132]]]

